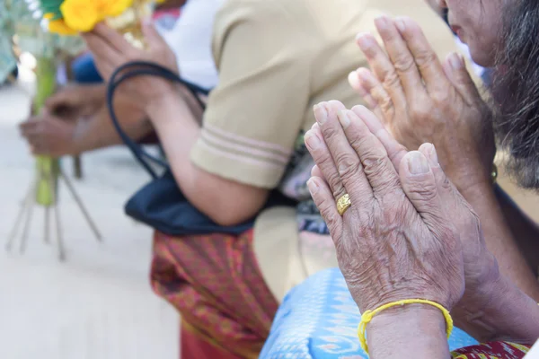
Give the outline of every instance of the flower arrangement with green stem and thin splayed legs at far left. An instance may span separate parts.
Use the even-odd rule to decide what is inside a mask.
[[[33,10],[31,10],[33,9]],[[11,57],[16,64],[16,53],[30,53],[36,59],[36,91],[32,101],[32,112],[38,115],[44,107],[45,101],[54,94],[58,82],[58,68],[62,65],[66,57],[73,57],[84,50],[83,39],[69,35],[58,36],[43,26],[40,12],[36,11],[36,6],[32,3],[25,3],[21,0],[0,0],[0,10],[2,10],[2,42],[0,44],[0,74],[4,74],[4,64],[11,64],[11,61],[2,58]],[[16,51],[13,51],[13,48]],[[26,216],[24,228],[22,230],[21,251],[24,250],[25,241],[31,222],[32,206],[37,204],[45,208],[45,239],[49,241],[49,210],[55,210],[57,219],[58,250],[61,259],[64,258],[63,245],[59,232],[59,218],[57,216],[57,192],[58,180],[66,181],[68,189],[81,206],[81,209],[90,223],[96,236],[101,238],[96,231],[93,222],[76,195],[71,183],[63,175],[60,167],[60,160],[49,156],[36,157],[36,176],[31,183],[31,188],[24,201],[21,212],[17,216],[13,231],[8,239],[6,248],[9,250],[13,244],[22,220]]]

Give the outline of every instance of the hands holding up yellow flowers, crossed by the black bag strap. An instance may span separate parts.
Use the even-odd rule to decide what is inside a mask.
[[[98,24],[91,32],[83,34],[88,48],[93,53],[95,65],[105,79],[119,67],[131,61],[150,61],[178,72],[176,56],[172,49],[155,30],[154,25],[145,23],[143,31],[147,49],[131,46],[119,32],[110,29],[103,23]],[[146,108],[152,101],[164,94],[174,91],[172,83],[155,76],[137,77],[124,83],[120,92],[132,101]]]

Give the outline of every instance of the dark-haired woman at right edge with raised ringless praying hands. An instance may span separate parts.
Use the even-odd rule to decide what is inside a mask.
[[[537,21],[533,0],[441,2],[459,38],[480,66],[495,66],[494,114],[465,71],[462,57],[443,64],[407,19],[376,21],[386,48],[370,34],[358,45],[373,69],[350,75],[356,90],[407,148],[437,146],[440,162],[484,223],[485,240],[501,272],[539,301],[539,232],[499,186],[492,186],[493,128],[508,150],[508,171],[525,188],[539,188]],[[500,32],[499,30],[502,29]],[[492,127],[492,123],[494,127]]]

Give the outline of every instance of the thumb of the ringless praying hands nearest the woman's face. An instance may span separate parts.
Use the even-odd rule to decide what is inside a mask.
[[[464,101],[476,100],[481,97],[461,54],[453,53],[446,58],[444,72],[449,81],[455,86],[456,91],[464,98]]]

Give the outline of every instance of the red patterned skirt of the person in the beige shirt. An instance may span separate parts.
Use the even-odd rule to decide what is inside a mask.
[[[199,343],[213,344],[231,359],[258,358],[278,302],[261,276],[252,231],[184,237],[156,232],[151,281],[190,328],[186,346],[199,337]],[[204,356],[206,350],[199,346],[199,355],[182,358],[227,357]]]

